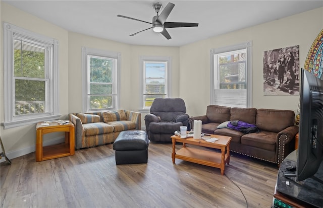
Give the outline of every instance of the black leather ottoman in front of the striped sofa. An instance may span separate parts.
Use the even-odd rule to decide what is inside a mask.
[[[116,164],[147,163],[148,136],[143,130],[122,131],[113,144]]]

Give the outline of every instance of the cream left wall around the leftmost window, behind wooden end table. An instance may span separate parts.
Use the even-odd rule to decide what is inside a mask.
[[[3,22],[8,22],[32,32],[55,38],[59,41],[59,106],[62,119],[67,118],[68,109],[68,31],[43,21],[35,16],[29,15],[6,3],[1,2],[1,54],[3,54]],[[1,55],[0,66],[0,123],[4,122],[4,64]],[[24,155],[35,151],[36,125],[25,125],[21,127],[4,129],[0,128],[0,135],[6,149],[8,158]],[[45,137],[46,143],[61,137],[53,134]]]

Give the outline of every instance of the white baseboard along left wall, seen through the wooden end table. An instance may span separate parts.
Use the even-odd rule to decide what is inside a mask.
[[[57,144],[64,143],[64,142],[65,142],[65,137],[61,136],[61,137],[53,138],[52,140],[45,141],[43,143],[43,146],[57,145]],[[35,151],[36,151],[36,144],[34,146],[30,146],[30,147],[23,148],[20,150],[6,152],[6,156],[9,158],[9,160],[11,160],[11,159],[18,158],[20,156],[35,152]],[[1,163],[5,162],[5,161],[6,161],[5,157],[2,157],[0,160]]]

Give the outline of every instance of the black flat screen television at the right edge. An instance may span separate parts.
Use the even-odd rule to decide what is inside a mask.
[[[301,70],[296,181],[312,177],[323,160],[323,80]]]

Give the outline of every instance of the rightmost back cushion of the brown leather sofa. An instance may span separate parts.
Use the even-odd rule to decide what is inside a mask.
[[[258,109],[256,125],[260,130],[279,131],[294,125],[295,113],[291,110]]]

